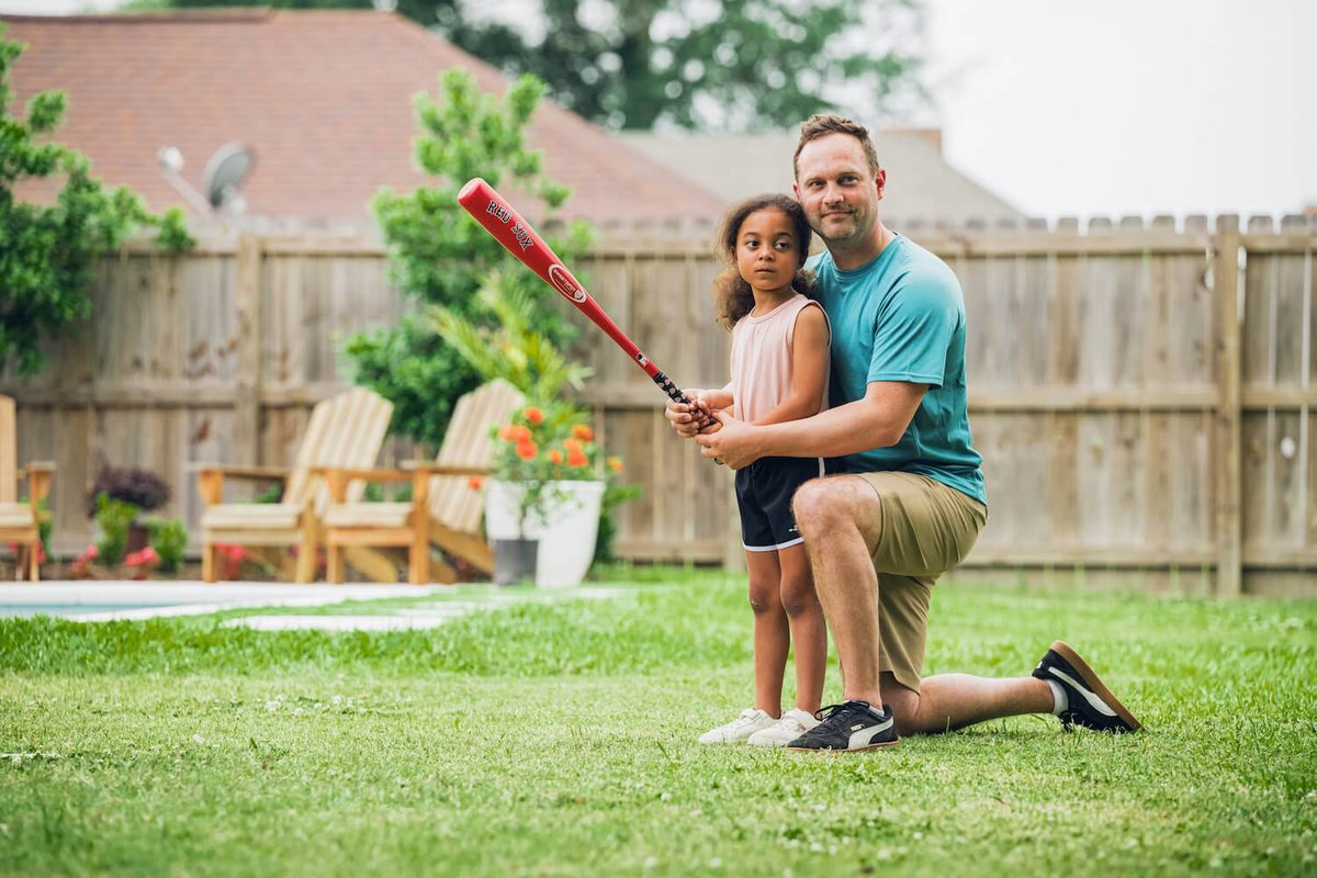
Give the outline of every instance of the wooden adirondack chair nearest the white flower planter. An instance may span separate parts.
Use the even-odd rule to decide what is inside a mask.
[[[328,582],[342,582],[344,550],[350,546],[406,546],[408,582],[456,582],[446,563],[431,565],[431,544],[470,562],[478,570],[494,570],[494,553],[479,533],[483,491],[473,490],[471,475],[490,471],[494,458],[494,428],[507,424],[524,404],[520,391],[502,379],[466,394],[453,408],[453,420],[433,462],[416,462],[406,470],[327,469],[329,494],[335,498],[325,513]],[[410,503],[358,503],[348,496],[350,479],[411,482]],[[348,558],[349,562],[353,558]]]

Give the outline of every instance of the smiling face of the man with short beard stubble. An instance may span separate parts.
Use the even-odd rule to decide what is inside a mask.
[[[853,245],[873,236],[886,171],[874,178],[849,134],[813,140],[795,162],[795,197],[823,244]]]

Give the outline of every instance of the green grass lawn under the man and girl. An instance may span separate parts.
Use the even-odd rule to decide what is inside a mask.
[[[926,673],[1063,637],[1147,731],[815,756],[695,744],[749,700],[743,581],[608,584],[419,632],[0,620],[0,873],[1317,873],[1317,603],[942,587]]]

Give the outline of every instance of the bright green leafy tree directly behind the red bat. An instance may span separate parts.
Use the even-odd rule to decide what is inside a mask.
[[[553,344],[573,334],[558,296],[457,204],[458,191],[473,176],[483,176],[495,188],[508,183],[522,196],[523,212],[528,212],[527,199],[541,201],[541,224],[566,200],[569,190],[547,179],[540,153],[525,146],[525,125],[544,84],[522,76],[503,99],[497,99],[482,95],[471,74],[449,70],[441,76],[441,91],[440,103],[428,95],[416,97],[421,128],[416,161],[435,183],[408,194],[386,188],[374,203],[394,278],[417,307],[396,326],[357,336],[348,344],[357,363],[357,382],[394,403],[394,432],[435,445],[443,441],[453,403],[478,383],[471,366],[436,333],[436,305],[473,325],[490,325],[489,311],[475,294],[491,271],[502,270],[502,284],[511,295],[553,300],[533,309],[531,330]],[[549,244],[570,262],[587,242],[587,226],[577,222],[565,241]]]

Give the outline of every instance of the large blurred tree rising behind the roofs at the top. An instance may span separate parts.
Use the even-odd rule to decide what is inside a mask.
[[[146,0],[216,5],[217,0]],[[224,5],[370,8],[371,0]],[[520,22],[462,0],[398,0],[398,12],[615,129],[790,128],[811,113],[864,120],[922,107],[923,0],[522,0]],[[535,26],[539,32],[540,28]]]

